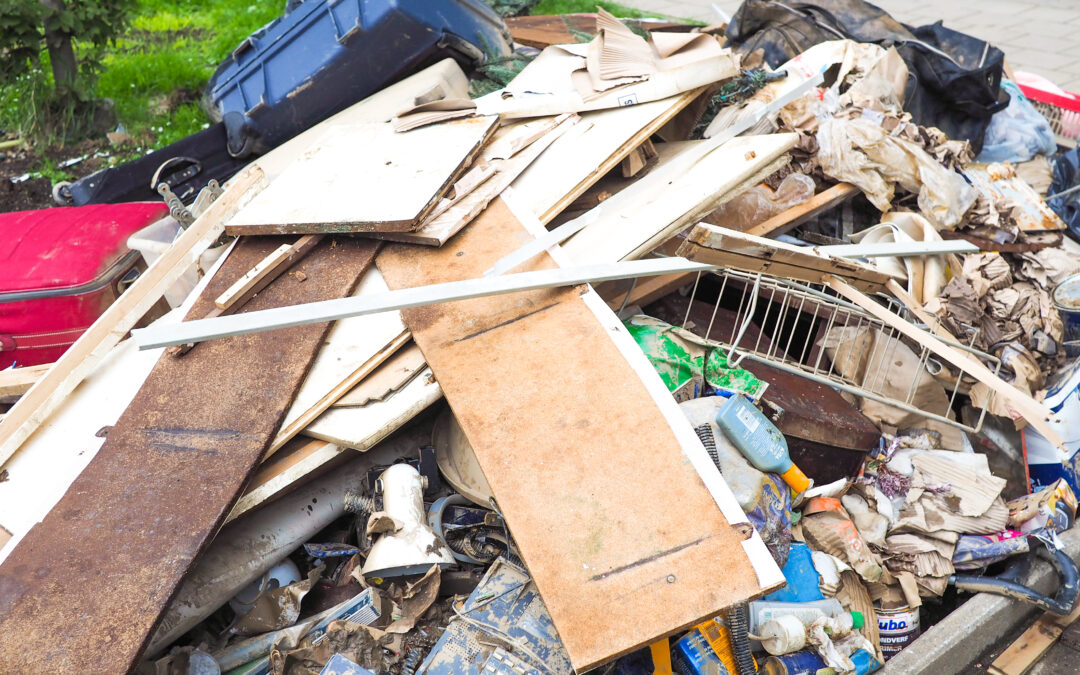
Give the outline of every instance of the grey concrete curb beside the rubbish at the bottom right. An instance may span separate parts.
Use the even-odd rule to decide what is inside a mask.
[[[1062,535],[1062,542],[1069,557],[1077,559],[1080,556],[1080,530],[1068,530]],[[1057,571],[1050,563],[1039,561],[1027,585],[1039,593],[1051,593],[1057,588]],[[1032,605],[1002,595],[978,593],[931,626],[880,672],[886,675],[959,673],[991,645],[1041,613],[1042,610]]]

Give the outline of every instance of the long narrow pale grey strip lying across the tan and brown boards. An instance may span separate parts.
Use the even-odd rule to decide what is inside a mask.
[[[654,276],[672,272],[705,272],[713,269],[716,269],[716,266],[691,262],[683,258],[652,258],[608,265],[583,265],[537,270],[495,278],[465,279],[419,288],[401,288],[338,300],[308,302],[232,316],[199,319],[186,321],[177,326],[170,326],[168,329],[150,326],[132,330],[132,337],[135,338],[139,349],[156,349],[519,291],[573,286],[612,279]]]

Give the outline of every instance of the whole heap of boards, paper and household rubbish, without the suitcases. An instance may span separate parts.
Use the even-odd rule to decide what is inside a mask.
[[[3,372],[0,670],[868,673],[957,590],[1072,612],[1080,258],[977,161],[1001,53],[961,116],[926,30],[768,4],[510,19],[497,91],[447,59],[165,189]],[[1040,550],[1055,597],[994,577]]]

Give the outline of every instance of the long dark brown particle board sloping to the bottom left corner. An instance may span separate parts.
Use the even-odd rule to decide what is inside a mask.
[[[248,239],[188,318],[281,242]],[[324,242],[244,311],[348,295],[375,244]],[[326,324],[162,356],[56,507],[0,565],[0,672],[125,673],[258,465]]]

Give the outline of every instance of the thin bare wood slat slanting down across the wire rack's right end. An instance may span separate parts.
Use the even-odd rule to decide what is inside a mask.
[[[944,359],[989,387],[991,391],[996,392],[1008,403],[1009,407],[1015,410],[1015,417],[1017,419],[1023,418],[1027,420],[1027,422],[1037,429],[1039,433],[1051,443],[1051,445],[1064,451],[1065,442],[1062,440],[1061,435],[1057,434],[1054,428],[1048,423],[1049,420],[1053,419],[1054,415],[1047,406],[1002,380],[1000,377],[991,373],[989,368],[983,365],[982,362],[942,342],[927,330],[916,328],[914,325],[881,307],[872,298],[863,295],[860,291],[847,284],[845,281],[833,276],[827,280],[827,283],[834,291],[842,295],[851,302],[854,302],[859,307],[863,308],[880,321],[885,322],[886,325],[895,328],[908,339],[914,340],[917,345],[929,349],[937,356]]]

